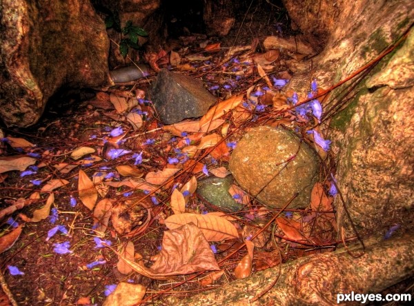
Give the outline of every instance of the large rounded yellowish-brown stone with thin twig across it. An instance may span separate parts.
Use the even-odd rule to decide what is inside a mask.
[[[289,207],[306,207],[318,178],[319,158],[295,134],[260,126],[237,143],[231,155],[230,171],[237,183],[264,205],[283,207],[297,192]]]

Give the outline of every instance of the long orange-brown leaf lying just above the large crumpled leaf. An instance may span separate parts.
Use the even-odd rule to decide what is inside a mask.
[[[165,220],[166,226],[170,230],[191,222],[201,229],[207,241],[221,241],[239,237],[233,223],[219,216],[184,213],[174,214]]]

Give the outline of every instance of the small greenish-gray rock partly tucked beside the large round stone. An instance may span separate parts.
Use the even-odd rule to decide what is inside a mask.
[[[238,212],[243,205],[237,203],[230,195],[228,189],[233,183],[233,176],[228,175],[224,179],[210,176],[201,179],[197,183],[197,194],[209,203],[219,207],[223,212]]]

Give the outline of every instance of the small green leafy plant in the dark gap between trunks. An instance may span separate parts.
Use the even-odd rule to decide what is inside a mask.
[[[119,15],[117,13],[111,13],[105,19],[106,28],[113,28],[117,32],[121,32],[123,38],[119,42],[119,52],[123,57],[128,54],[129,48],[139,50],[138,38],[148,36],[146,30],[137,26],[132,26],[132,21],[128,20],[124,28],[121,28],[121,22],[119,21]]]

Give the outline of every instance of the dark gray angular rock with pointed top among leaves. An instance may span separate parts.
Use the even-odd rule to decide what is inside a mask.
[[[166,69],[159,72],[152,84],[150,99],[159,119],[166,124],[203,116],[216,101],[215,96],[203,87],[203,82],[199,79]]]

